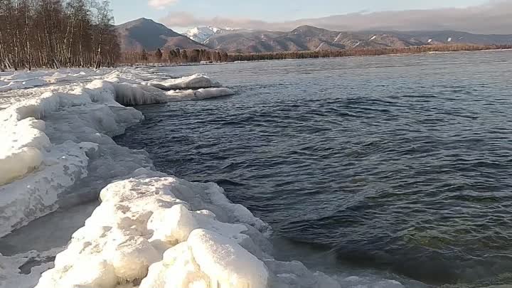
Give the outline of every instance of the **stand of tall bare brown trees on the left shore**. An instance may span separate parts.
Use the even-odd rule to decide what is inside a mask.
[[[0,0],[0,70],[113,66],[109,1]]]

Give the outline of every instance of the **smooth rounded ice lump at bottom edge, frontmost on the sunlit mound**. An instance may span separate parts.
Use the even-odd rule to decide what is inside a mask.
[[[197,229],[187,242],[167,250],[164,259],[149,268],[140,288],[265,288],[267,279],[263,262],[234,240]]]

